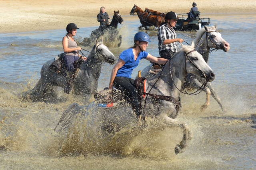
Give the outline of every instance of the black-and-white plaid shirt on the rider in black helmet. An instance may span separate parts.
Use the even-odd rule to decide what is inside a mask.
[[[174,53],[178,51],[178,45],[176,42],[163,45],[164,40],[176,39],[177,37],[174,29],[173,28],[171,29],[170,27],[168,27],[167,23],[158,28],[157,37],[158,37],[159,54],[160,54],[160,51],[163,51],[163,50],[172,51]]]

